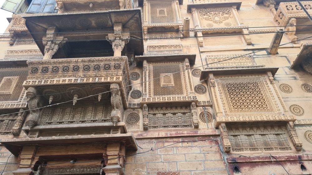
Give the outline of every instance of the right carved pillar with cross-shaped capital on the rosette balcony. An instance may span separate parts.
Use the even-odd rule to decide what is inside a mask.
[[[114,23],[114,33],[108,34],[114,56],[121,56],[121,51],[124,49],[124,45],[129,42],[129,38],[129,32],[122,32],[122,23]]]

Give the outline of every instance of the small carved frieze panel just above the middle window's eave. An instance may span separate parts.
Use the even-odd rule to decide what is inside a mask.
[[[148,46],[148,55],[182,54],[182,45]]]

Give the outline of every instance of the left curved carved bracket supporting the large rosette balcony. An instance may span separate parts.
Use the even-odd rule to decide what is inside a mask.
[[[29,128],[34,127],[37,125],[40,115],[40,108],[43,106],[43,100],[41,96],[38,95],[37,90],[33,87],[29,87],[26,92],[26,97],[28,101],[28,108],[30,109],[29,116],[27,118],[26,124]]]

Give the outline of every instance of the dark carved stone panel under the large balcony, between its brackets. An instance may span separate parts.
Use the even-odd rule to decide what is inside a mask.
[[[75,106],[58,105],[44,108],[40,125],[64,125],[111,122],[110,104],[77,103]]]

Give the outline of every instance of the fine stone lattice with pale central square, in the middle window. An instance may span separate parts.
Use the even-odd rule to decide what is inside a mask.
[[[153,65],[153,79],[181,70],[180,64]],[[184,95],[181,72],[153,80],[154,96]]]

